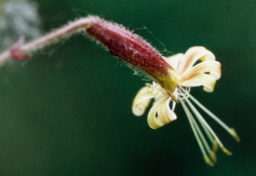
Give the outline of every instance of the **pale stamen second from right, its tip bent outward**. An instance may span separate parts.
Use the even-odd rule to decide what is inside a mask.
[[[221,140],[218,138],[218,136],[215,134],[215,132],[213,131],[213,129],[208,125],[208,123],[205,121],[205,119],[202,117],[202,115],[198,112],[198,110],[195,108],[195,106],[190,102],[189,99],[185,99],[185,101],[188,103],[189,107],[191,108],[191,110],[195,113],[197,119],[199,121],[202,121],[202,123],[206,126],[206,128],[210,131],[210,133],[214,136],[214,138],[216,139],[217,143],[219,144],[219,146],[221,147],[221,149],[224,151],[225,154],[227,155],[231,155],[231,152],[228,151],[223,143],[221,142]]]

